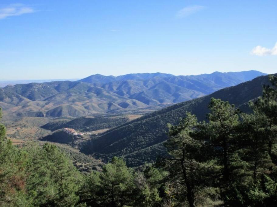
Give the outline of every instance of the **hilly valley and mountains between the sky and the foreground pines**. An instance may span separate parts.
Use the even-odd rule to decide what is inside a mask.
[[[204,74],[199,77],[177,77],[160,73],[129,74],[118,77],[92,75],[77,82],[8,86],[2,88],[2,122],[7,128],[6,136],[15,145],[28,141],[51,142],[67,150],[74,152],[77,150],[80,154],[92,155],[95,159],[103,162],[107,162],[113,156],[123,156],[129,166],[135,167],[143,165],[145,162],[154,162],[159,156],[166,155],[163,142],[167,139],[167,123],[176,124],[187,111],[196,114],[200,121],[205,120],[205,115],[208,113],[207,104],[211,97],[228,100],[244,111],[249,110],[247,102],[260,96],[262,85],[268,84],[267,76],[255,78],[260,74],[250,71]],[[209,82],[204,77],[209,78]],[[215,85],[218,88],[223,85],[230,86],[253,77],[254,79],[251,81],[206,95],[216,90],[213,88]],[[141,78],[145,78],[145,80]],[[202,87],[206,91],[200,88],[199,78],[201,78]],[[183,85],[185,90],[189,87],[189,90],[192,90],[192,86],[188,85],[188,80],[180,82],[181,79],[189,79],[190,82],[198,79],[199,83],[196,82],[193,87],[199,87],[197,90],[202,92],[194,92],[198,95],[195,96],[195,99],[190,100],[194,97],[188,95],[191,94],[190,92],[179,91],[183,96],[183,99],[179,100],[185,100],[185,102],[174,105],[172,105],[174,99],[168,99],[167,104],[162,101],[157,102],[161,91],[174,94],[171,87],[167,88],[168,82],[172,82],[172,79],[175,84]],[[151,87],[150,90],[139,92],[142,90],[142,85],[138,83],[144,83],[143,85],[147,86],[154,81],[156,84],[152,88],[154,87],[156,93],[149,92],[152,90]],[[213,84],[210,83],[211,81]],[[132,84],[130,85],[130,83]],[[96,85],[98,86],[96,87]],[[161,87],[161,85],[163,86]],[[207,90],[207,85],[210,85],[209,90]],[[254,88],[254,90],[250,88]],[[144,96],[140,99],[134,95],[137,93],[148,93],[148,98]],[[97,99],[88,98],[92,96]],[[132,102],[135,107],[121,102],[113,108],[117,102],[122,100],[130,102],[130,97],[137,98]],[[163,97],[166,96],[163,95]],[[68,105],[65,105],[66,102]],[[98,103],[97,108],[92,107],[92,105],[95,106],[95,102]],[[99,102],[106,106],[103,107]],[[135,102],[141,104],[138,105]],[[60,103],[62,105],[59,105]],[[68,133],[68,130],[74,132]]]

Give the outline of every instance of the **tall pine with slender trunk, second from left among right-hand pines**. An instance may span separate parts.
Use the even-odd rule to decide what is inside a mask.
[[[206,125],[206,137],[213,147],[215,159],[223,165],[223,183],[230,181],[230,165],[239,161],[235,157],[237,150],[237,127],[239,126],[239,110],[234,105],[220,99],[211,98],[208,105],[209,124]],[[235,175],[234,175],[235,176]]]

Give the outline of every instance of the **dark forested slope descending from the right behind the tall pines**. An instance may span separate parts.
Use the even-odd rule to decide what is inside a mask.
[[[187,111],[195,114],[199,121],[205,120],[212,97],[229,101],[243,112],[248,112],[248,102],[262,94],[263,85],[270,85],[268,76],[148,113],[89,140],[82,146],[82,152],[104,160],[123,156],[129,166],[153,162],[158,156],[166,155],[163,142],[167,139],[167,123],[177,124]]]

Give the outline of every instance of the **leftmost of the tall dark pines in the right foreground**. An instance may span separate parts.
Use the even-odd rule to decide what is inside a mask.
[[[206,162],[203,158],[205,155],[201,149],[204,142],[191,136],[196,125],[196,116],[186,113],[186,117],[181,119],[178,125],[168,125],[169,139],[165,143],[171,155],[167,159],[166,169],[170,173],[170,186],[175,189],[172,192],[173,196],[181,202],[186,198],[189,206],[195,206],[195,198],[203,195],[211,184],[209,176],[216,171],[215,163],[210,160]]]

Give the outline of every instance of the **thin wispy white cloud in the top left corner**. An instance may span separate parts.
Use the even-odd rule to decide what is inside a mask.
[[[10,4],[0,8],[0,19],[5,19],[10,16],[19,16],[23,14],[33,13],[35,10],[23,4]]]

